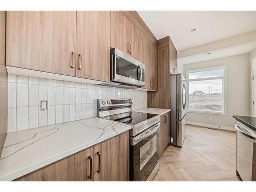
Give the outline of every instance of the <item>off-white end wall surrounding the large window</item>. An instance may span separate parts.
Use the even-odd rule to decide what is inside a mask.
[[[186,74],[186,70],[223,65],[227,66],[226,115],[187,113],[187,122],[213,125],[212,127],[221,126],[222,129],[228,129],[228,127],[233,127],[235,123],[232,115],[250,115],[250,62],[248,53],[184,65],[184,73]]]

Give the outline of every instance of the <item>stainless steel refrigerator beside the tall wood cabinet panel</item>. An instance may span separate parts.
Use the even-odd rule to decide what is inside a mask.
[[[170,144],[182,147],[186,136],[186,79],[170,74]]]

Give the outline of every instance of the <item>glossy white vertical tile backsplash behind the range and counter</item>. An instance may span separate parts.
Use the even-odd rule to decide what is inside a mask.
[[[103,98],[132,98],[134,110],[147,106],[145,91],[9,75],[8,132],[96,117]],[[40,110],[41,100],[48,110]]]

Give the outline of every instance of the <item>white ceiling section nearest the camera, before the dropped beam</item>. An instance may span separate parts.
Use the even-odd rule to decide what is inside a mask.
[[[178,51],[256,30],[256,11],[138,11],[157,39]],[[195,32],[190,32],[196,28]]]

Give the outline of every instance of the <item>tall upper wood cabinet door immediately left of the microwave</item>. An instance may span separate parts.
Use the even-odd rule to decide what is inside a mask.
[[[110,81],[110,11],[77,11],[76,76]]]

